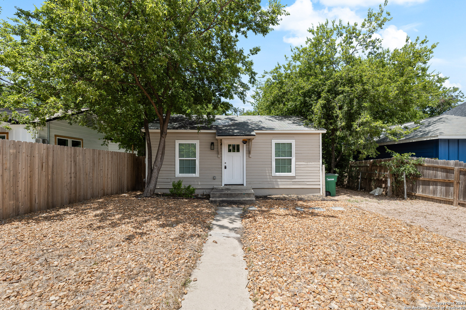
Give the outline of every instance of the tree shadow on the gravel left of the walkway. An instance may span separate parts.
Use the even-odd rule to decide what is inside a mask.
[[[9,218],[0,223],[21,225],[54,223],[78,218],[77,227],[91,231],[105,230],[122,225],[130,225],[135,231],[128,235],[132,239],[143,236],[144,225],[151,222],[159,228],[173,227],[179,224],[191,224],[207,228],[212,218],[214,207],[204,200],[184,200],[170,198],[136,198],[139,192],[127,192],[118,195],[90,199],[76,204],[64,205]]]

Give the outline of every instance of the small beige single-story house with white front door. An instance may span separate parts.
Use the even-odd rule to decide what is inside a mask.
[[[159,129],[158,120],[150,123],[153,160]],[[256,195],[322,194],[324,132],[295,116],[218,115],[211,125],[199,126],[172,115],[157,189],[168,192],[182,179],[197,193],[243,185]]]

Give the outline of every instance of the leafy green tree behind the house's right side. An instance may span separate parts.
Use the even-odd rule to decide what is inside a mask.
[[[310,28],[306,46],[267,72],[253,96],[259,114],[300,115],[326,129],[323,159],[332,173],[356,154],[375,156],[381,134],[406,133],[390,125],[436,113],[446,106],[440,100],[459,101],[458,89],[443,87],[446,78],[429,68],[436,44],[417,38],[393,51],[382,48],[375,34],[389,15],[381,5],[360,26],[340,20]]]

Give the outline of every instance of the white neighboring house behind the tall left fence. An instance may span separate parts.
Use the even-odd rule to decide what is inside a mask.
[[[74,115],[85,113],[88,109],[82,109],[81,112]],[[27,115],[28,109],[17,109],[17,112]],[[0,112],[7,112],[11,115],[9,109],[0,109]],[[91,116],[86,116],[91,117]],[[46,120],[46,124],[38,132],[31,132],[26,129],[26,125],[18,124],[11,117],[7,122],[1,122],[0,139],[9,139],[26,142],[39,142],[44,144],[64,145],[83,147],[96,150],[124,152],[118,148],[117,143],[109,141],[108,145],[102,145],[104,135],[86,126],[81,126],[76,123],[69,125],[67,120],[60,119],[61,115],[56,115]],[[11,130],[5,129],[3,126],[8,125]]]

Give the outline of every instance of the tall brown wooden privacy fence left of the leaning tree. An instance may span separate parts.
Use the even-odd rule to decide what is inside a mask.
[[[0,166],[0,219],[140,188],[145,167],[130,153],[3,139]]]

